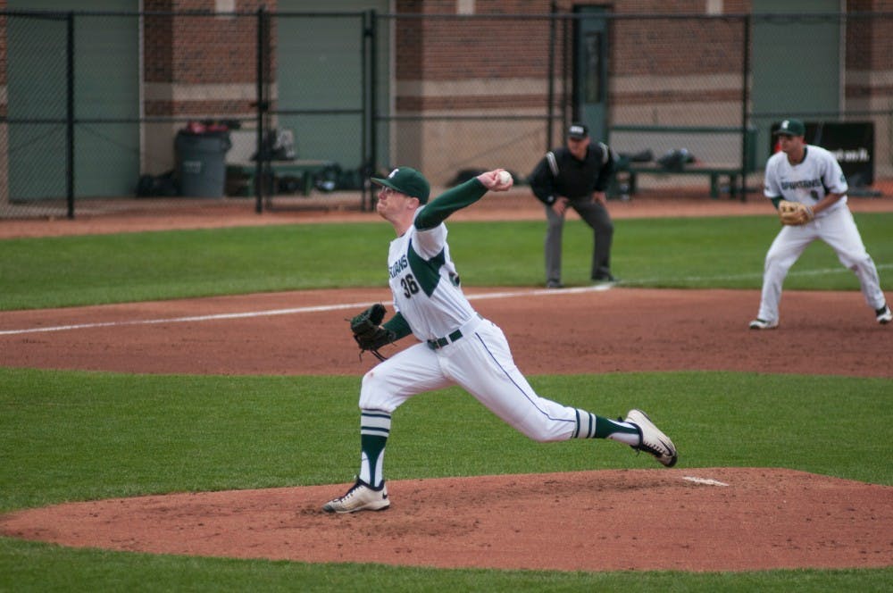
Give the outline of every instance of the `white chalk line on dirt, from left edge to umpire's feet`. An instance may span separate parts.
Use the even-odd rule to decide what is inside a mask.
[[[597,284],[595,286],[563,288],[561,290],[542,288],[538,290],[514,290],[506,292],[493,292],[486,295],[468,296],[468,300],[486,300],[492,298],[514,298],[516,296],[556,296],[579,294],[584,292],[601,292],[612,288],[613,284]],[[385,301],[383,305],[393,305],[393,301]],[[169,317],[163,319],[135,319],[121,322],[95,322],[74,323],[71,325],[54,325],[45,328],[28,328],[24,330],[0,330],[0,336],[18,336],[21,334],[43,333],[47,331],[93,330],[96,328],[113,328],[125,325],[155,325],[160,323],[195,323],[217,322],[227,319],[248,319],[252,317],[272,317],[275,315],[296,315],[299,313],[324,313],[329,311],[341,311],[343,309],[361,310],[369,306],[369,303],[346,303],[343,305],[313,305],[294,307],[290,309],[270,309],[267,311],[246,311],[244,313],[216,313],[211,315],[190,315],[188,317]]]

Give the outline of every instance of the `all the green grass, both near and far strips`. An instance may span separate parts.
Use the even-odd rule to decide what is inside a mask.
[[[893,214],[857,214],[856,221],[889,290]],[[615,224],[614,271],[625,284],[644,288],[757,289],[765,250],[778,229],[770,217]],[[543,223],[449,226],[467,286],[541,283]],[[384,287],[391,237],[387,225],[370,222],[4,240],[0,310]],[[569,222],[568,284],[588,280],[590,250],[582,223]],[[816,244],[786,288],[857,290],[858,284],[828,246]],[[672,434],[680,466],[785,467],[893,485],[891,380],[737,372],[530,380],[544,395],[599,413],[623,413],[631,401],[642,405]],[[343,484],[356,469],[357,388],[358,377],[0,368],[0,512],[171,491]],[[463,419],[461,431],[452,422],[456,417]],[[533,443],[458,389],[414,398],[395,421],[398,433],[388,447],[388,477],[395,480],[654,466],[624,447],[597,447],[594,455],[592,443]],[[433,570],[144,555],[0,538],[0,590],[10,591],[583,588],[885,591],[893,588],[893,569]]]

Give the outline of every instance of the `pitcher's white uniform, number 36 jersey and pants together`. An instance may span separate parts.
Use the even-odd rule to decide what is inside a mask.
[[[459,286],[444,223],[413,225],[392,241],[388,269],[394,308],[422,341],[363,376],[361,409],[390,414],[417,393],[459,385],[535,440],[595,436],[596,416],[539,397],[503,331],[474,311]]]

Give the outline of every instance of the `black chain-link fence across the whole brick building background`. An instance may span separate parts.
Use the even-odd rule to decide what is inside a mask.
[[[613,196],[746,197],[787,117],[855,191],[893,178],[893,13],[498,4],[0,13],[0,218],[368,208],[369,174],[397,164],[438,188],[497,166],[523,181],[571,121],[620,154]]]

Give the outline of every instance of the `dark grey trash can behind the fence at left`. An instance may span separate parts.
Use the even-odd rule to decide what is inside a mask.
[[[231,146],[229,130],[179,130],[174,147],[180,196],[222,197]]]

